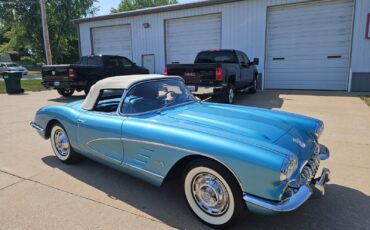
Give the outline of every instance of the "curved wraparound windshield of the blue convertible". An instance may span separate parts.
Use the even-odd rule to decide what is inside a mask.
[[[138,114],[194,101],[184,82],[169,79],[134,86],[123,101],[121,112]]]

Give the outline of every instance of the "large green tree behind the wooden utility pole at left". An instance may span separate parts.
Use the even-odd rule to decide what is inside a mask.
[[[78,60],[78,37],[72,19],[94,15],[96,0],[47,0],[53,63]],[[17,51],[28,60],[45,63],[39,0],[0,0],[0,53]]]

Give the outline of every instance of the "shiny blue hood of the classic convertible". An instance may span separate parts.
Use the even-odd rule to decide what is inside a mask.
[[[199,103],[189,109],[171,111],[168,116],[197,131],[232,139],[241,136],[273,143],[292,126],[266,113],[273,111],[256,112],[256,109],[244,106]]]

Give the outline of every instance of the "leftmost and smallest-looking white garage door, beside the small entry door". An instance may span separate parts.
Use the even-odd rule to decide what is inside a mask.
[[[131,26],[92,28],[94,54],[122,55],[132,59]]]

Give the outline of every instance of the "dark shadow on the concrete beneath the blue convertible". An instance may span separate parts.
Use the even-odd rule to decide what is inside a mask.
[[[54,156],[44,157],[42,161],[171,227],[209,228],[187,207],[180,178],[157,188],[85,158],[75,165],[63,164]],[[326,196],[311,198],[294,212],[273,216],[245,212],[232,229],[365,229],[370,226],[369,209],[369,196],[352,188],[328,184]]]

